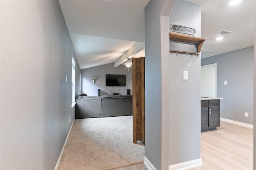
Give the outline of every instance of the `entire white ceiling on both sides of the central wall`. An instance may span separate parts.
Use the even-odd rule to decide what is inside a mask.
[[[136,42],[144,43],[149,0],[59,0],[80,68],[113,63]],[[254,0],[188,0],[201,5],[201,57],[254,45]],[[186,25],[184,25],[186,26]],[[232,31],[221,41],[218,32]],[[132,56],[131,56],[132,57]],[[144,50],[134,57],[144,57]]]

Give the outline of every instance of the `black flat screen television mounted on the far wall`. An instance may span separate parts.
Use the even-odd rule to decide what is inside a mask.
[[[106,74],[106,86],[126,86],[126,75]]]

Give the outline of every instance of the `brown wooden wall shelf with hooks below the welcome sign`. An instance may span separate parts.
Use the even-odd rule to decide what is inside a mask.
[[[170,32],[170,40],[197,44],[197,53],[198,53],[197,55],[199,55],[202,45],[204,44],[204,41],[206,40],[206,38],[192,37],[189,35],[183,35],[183,34]],[[188,51],[185,51],[185,52],[191,53]]]

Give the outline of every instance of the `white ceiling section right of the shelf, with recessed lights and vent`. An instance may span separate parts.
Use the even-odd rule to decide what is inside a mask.
[[[230,0],[188,0],[201,5],[201,37],[207,38],[201,57],[242,49],[254,45],[254,0],[243,0],[230,6]],[[216,41],[217,33],[233,33]]]

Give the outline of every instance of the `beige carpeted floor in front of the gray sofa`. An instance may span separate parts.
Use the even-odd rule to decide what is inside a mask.
[[[144,161],[132,143],[132,116],[76,119],[58,170],[110,170]]]

